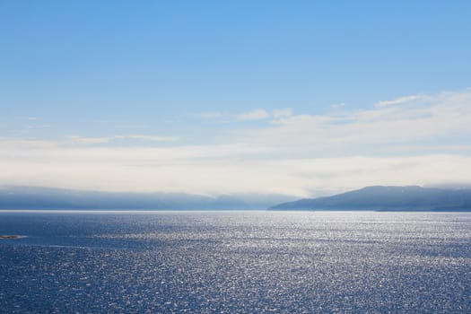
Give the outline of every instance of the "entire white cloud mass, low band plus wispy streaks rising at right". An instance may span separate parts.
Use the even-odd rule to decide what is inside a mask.
[[[323,115],[260,109],[242,116],[261,125],[234,126],[213,144],[179,144],[178,136],[3,137],[0,184],[317,196],[471,180],[470,90],[382,100],[368,109],[342,106]],[[106,145],[119,139],[132,145]]]

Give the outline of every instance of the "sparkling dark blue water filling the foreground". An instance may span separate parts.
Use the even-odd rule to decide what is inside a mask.
[[[0,212],[2,313],[471,313],[471,214]]]

